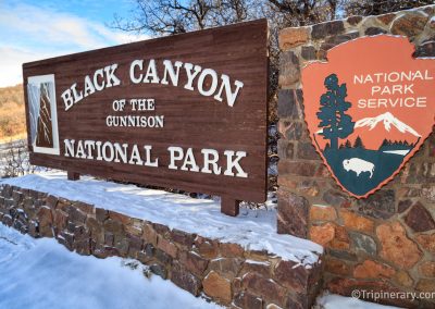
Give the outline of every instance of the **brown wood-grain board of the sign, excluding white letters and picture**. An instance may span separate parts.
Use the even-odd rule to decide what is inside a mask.
[[[229,197],[236,200],[263,202],[266,197],[266,126],[268,126],[268,25],[265,20],[150,39],[128,45],[92,50],[71,55],[41,60],[23,65],[26,97],[28,145],[32,151],[27,78],[54,74],[59,123],[60,156],[30,152],[30,162],[74,173],[90,174],[119,181],[179,188]],[[162,84],[133,84],[129,65],[144,60],[144,74],[150,59],[156,59],[159,76],[163,76],[165,59],[190,62],[213,69],[217,76],[226,74],[232,83],[244,83],[234,107],[226,100],[219,102],[203,97],[197,90],[184,88],[187,82],[181,70],[178,86]],[[65,111],[62,92],[77,83],[84,88],[86,75],[117,63],[116,76],[121,85],[97,91]],[[207,83],[209,83],[206,79]],[[194,87],[196,83],[194,83]],[[196,88],[196,87],[195,87]],[[115,112],[115,99],[153,98],[154,111]],[[108,115],[164,115],[163,128],[108,127]],[[159,168],[138,166],[64,156],[64,139],[100,140],[128,145],[152,146],[152,157],[159,158]],[[248,177],[213,175],[191,171],[170,170],[167,147],[194,149],[197,163],[202,166],[203,148],[223,151],[246,151],[241,166]]]

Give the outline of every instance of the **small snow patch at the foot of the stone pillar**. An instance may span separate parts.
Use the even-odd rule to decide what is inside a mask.
[[[335,294],[324,294],[316,300],[313,309],[399,309],[398,307],[383,306],[370,301],[363,301],[352,297],[345,297]]]

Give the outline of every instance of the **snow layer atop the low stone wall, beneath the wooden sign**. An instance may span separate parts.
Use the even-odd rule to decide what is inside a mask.
[[[233,218],[221,213],[219,201],[98,181],[88,176],[71,182],[66,180],[66,173],[59,171],[0,180],[1,184],[79,200],[171,228],[196,233],[223,243],[236,243],[246,249],[265,249],[308,268],[318,261],[323,251],[320,245],[310,240],[276,234],[276,210],[243,209],[240,215]]]

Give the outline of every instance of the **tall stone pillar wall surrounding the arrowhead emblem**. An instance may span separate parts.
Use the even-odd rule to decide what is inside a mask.
[[[435,57],[435,5],[381,16],[352,16],[311,27],[286,28],[278,94],[278,232],[326,248],[325,287],[435,291],[435,136],[393,182],[366,199],[344,193],[315,152],[303,121],[300,70],[325,60],[332,47],[362,36],[407,36],[415,57]],[[400,307],[425,301],[382,299]]]

